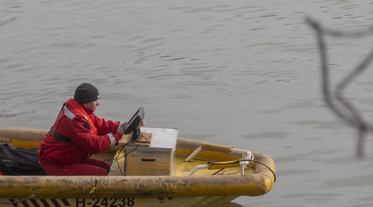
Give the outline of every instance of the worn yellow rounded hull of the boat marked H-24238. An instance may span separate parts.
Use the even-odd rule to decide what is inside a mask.
[[[37,147],[48,130],[0,128],[3,141]],[[177,157],[188,157],[203,142],[177,138]],[[116,148],[106,153],[115,154]],[[266,154],[252,152],[255,160],[246,174],[152,176],[1,176],[0,202],[19,206],[220,206],[238,196],[267,193],[275,181],[275,164]],[[230,161],[242,154],[203,149],[197,160]],[[182,164],[189,164],[184,162]],[[197,161],[195,161],[197,162]],[[265,163],[265,165],[260,164]],[[191,162],[193,164],[193,161]],[[176,164],[177,167],[177,164]],[[181,168],[181,167],[180,167]],[[176,174],[176,173],[175,173]],[[22,203],[22,204],[21,204]],[[3,205],[2,205],[3,206]],[[12,206],[12,204],[9,204]]]

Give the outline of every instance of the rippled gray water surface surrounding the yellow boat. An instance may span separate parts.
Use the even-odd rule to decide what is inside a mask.
[[[371,206],[373,146],[322,100],[309,15],[346,31],[371,26],[370,0],[0,0],[0,126],[50,128],[82,82],[96,114],[262,152],[277,181],[225,206]],[[332,81],[372,37],[328,38]],[[346,90],[369,120],[372,71]]]

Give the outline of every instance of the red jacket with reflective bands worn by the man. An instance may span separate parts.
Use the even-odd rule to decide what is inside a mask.
[[[92,110],[71,98],[66,101],[66,108],[53,124],[53,130],[69,137],[73,143],[61,141],[48,132],[39,145],[39,161],[52,164],[80,163],[88,153],[98,153],[118,145],[122,138],[116,132],[119,123],[97,117]]]

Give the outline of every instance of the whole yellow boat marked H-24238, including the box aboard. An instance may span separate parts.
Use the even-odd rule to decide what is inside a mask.
[[[37,148],[47,132],[0,128],[0,141]],[[96,155],[112,164],[109,176],[0,176],[1,206],[220,206],[263,195],[276,179],[266,154],[181,138],[174,128],[141,134]]]

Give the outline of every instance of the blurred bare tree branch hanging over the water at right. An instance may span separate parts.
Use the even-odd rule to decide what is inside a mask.
[[[323,98],[327,104],[327,106],[340,118],[345,120],[347,123],[352,125],[354,128],[357,129],[358,138],[356,144],[357,156],[362,157],[363,155],[363,143],[365,136],[368,131],[373,131],[373,126],[368,124],[361,113],[359,112],[356,107],[343,95],[343,90],[348,86],[348,84],[354,80],[361,72],[366,70],[369,66],[371,61],[373,60],[373,50],[369,52],[369,54],[363,59],[363,61],[357,65],[356,68],[352,69],[350,73],[348,73],[336,86],[336,89],[333,93],[330,89],[330,77],[329,77],[329,61],[328,61],[328,52],[326,49],[326,42],[324,37],[326,35],[334,36],[334,37],[362,37],[371,35],[373,33],[373,27],[369,27],[363,31],[357,32],[342,32],[342,31],[335,31],[323,28],[321,24],[312,19],[311,17],[306,17],[306,21],[310,24],[310,26],[315,30],[317,43],[321,58],[321,77],[322,77],[322,93]],[[339,102],[337,104],[336,102]]]

